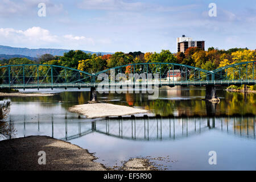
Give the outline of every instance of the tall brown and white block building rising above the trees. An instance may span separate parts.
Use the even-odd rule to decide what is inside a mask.
[[[177,52],[184,53],[189,47],[199,47],[204,50],[204,40],[192,40],[192,38],[188,38],[185,35],[182,35],[181,38],[177,38]]]

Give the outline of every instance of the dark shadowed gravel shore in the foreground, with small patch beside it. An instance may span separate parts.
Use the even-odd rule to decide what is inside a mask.
[[[75,144],[46,136],[0,141],[0,171],[106,171],[96,157]],[[38,164],[39,151],[46,152],[46,164]],[[130,159],[119,170],[155,170],[147,159]]]

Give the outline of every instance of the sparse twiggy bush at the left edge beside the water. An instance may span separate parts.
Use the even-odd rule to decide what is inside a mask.
[[[5,118],[10,112],[10,101],[0,101],[0,138],[7,138],[14,134],[14,128],[9,123],[5,122]]]

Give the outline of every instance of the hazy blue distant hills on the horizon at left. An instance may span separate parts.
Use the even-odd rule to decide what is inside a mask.
[[[63,56],[64,52],[70,51],[69,49],[29,49],[29,48],[19,48],[19,47],[10,47],[10,46],[0,46],[0,54],[3,55],[24,55],[30,57],[38,57],[49,53],[53,56]],[[83,50],[81,50],[83,51]],[[85,53],[101,53],[102,55],[113,54],[111,52],[92,52],[92,51],[83,51]]]

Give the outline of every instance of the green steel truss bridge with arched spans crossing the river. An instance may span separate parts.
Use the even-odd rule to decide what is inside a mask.
[[[256,84],[255,71],[256,61],[232,64],[213,71],[175,63],[139,63],[122,65],[97,73],[88,73],[59,65],[3,65],[0,67],[0,88],[80,89],[96,87],[102,80],[109,86],[254,85]],[[102,74],[105,74],[105,77]],[[112,77],[113,74],[115,78]],[[133,74],[130,81],[129,74]]]

